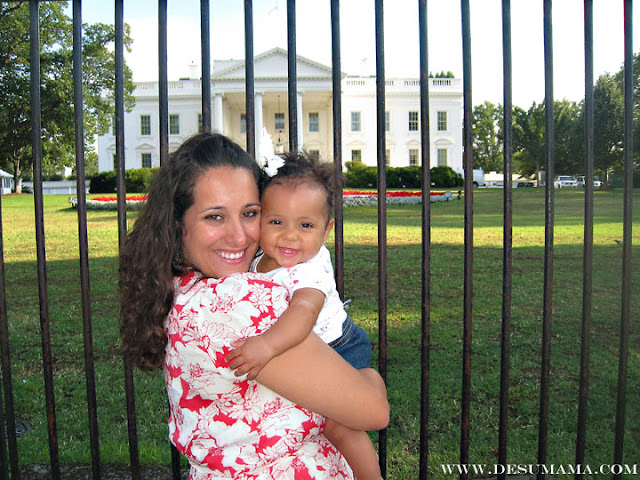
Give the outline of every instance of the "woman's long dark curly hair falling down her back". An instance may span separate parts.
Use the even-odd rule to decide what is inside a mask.
[[[220,166],[260,168],[239,145],[219,134],[186,140],[154,176],[145,208],[120,253],[120,337],[123,352],[141,370],[162,367],[164,320],[174,299],[173,277],[182,265],[182,221],[202,174]]]

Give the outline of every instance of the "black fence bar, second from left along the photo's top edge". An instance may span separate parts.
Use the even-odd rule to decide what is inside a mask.
[[[73,106],[75,114],[76,191],[78,209],[78,246],[80,256],[80,288],[84,333],[84,370],[87,384],[89,415],[89,443],[93,478],[99,480],[100,445],[98,443],[98,405],[93,357],[93,329],[91,325],[91,289],[89,282],[89,245],[87,237],[87,202],[84,172],[84,112],[82,93],[82,0],[73,1]]]

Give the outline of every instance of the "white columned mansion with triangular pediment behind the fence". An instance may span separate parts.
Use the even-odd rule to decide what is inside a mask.
[[[169,151],[201,129],[200,68],[190,78],[170,81]],[[274,48],[254,58],[256,157],[288,149],[287,52]],[[298,144],[320,158],[333,156],[331,68],[297,57]],[[139,82],[136,105],[125,113],[126,168],[159,166],[158,82]],[[211,74],[212,129],[246,147],[244,60],[216,60]],[[429,84],[431,166],[462,168],[462,81],[432,78]],[[343,75],[342,160],[377,162],[376,79]],[[98,138],[98,170],[113,170],[115,125]],[[420,82],[386,79],[385,130],[387,165],[420,164]]]

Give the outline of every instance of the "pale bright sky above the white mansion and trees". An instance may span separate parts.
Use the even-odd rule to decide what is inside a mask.
[[[86,23],[113,23],[114,11],[103,0],[85,0]],[[387,78],[419,76],[418,0],[384,2],[384,62]],[[470,0],[472,101],[503,103],[502,1]],[[200,63],[200,1],[167,0],[168,78],[188,76]],[[152,0],[124,0],[124,21],[131,26],[133,47],[126,53],[134,81],[158,78],[158,5]],[[254,0],[254,54],[287,48],[286,0]],[[451,71],[462,78],[460,2],[427,1],[429,71]],[[555,0],[552,6],[554,98],[584,98],[584,0]],[[624,63],[624,2],[593,0],[594,81],[616,73]],[[71,15],[71,8],[68,10]],[[302,55],[331,66],[329,0],[297,0],[296,48]],[[633,51],[640,51],[640,12],[633,12]],[[542,0],[512,0],[513,104],[528,109],[544,100]],[[244,2],[210,0],[212,59],[244,59]],[[340,2],[342,71],[375,75],[374,0]]]

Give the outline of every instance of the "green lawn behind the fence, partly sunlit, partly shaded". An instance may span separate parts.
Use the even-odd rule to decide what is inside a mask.
[[[584,197],[557,191],[547,464],[573,464],[582,309]],[[634,194],[631,312],[640,309],[640,191]],[[45,239],[55,400],[61,461],[90,463],[77,212],[45,197]],[[544,192],[514,190],[509,463],[537,462],[544,268]],[[462,376],[463,202],[432,204],[429,473],[458,463]],[[387,478],[418,476],[421,352],[421,210],[388,214]],[[622,192],[595,194],[591,377],[585,463],[613,463],[622,249]],[[135,218],[135,213],[129,213]],[[493,465],[498,448],[502,305],[502,191],[474,192],[471,463]],[[32,196],[2,197],[7,311],[16,414],[32,428],[19,439],[21,464],[48,463]],[[377,210],[345,209],[345,296],[377,347]],[[88,213],[91,313],[99,434],[104,464],[127,464],[123,364],[117,354],[117,218]],[[625,463],[640,463],[640,328],[632,313],[626,396]],[[375,348],[377,351],[377,348]],[[143,464],[170,463],[161,375],[136,373]]]

